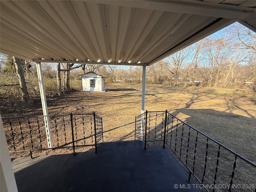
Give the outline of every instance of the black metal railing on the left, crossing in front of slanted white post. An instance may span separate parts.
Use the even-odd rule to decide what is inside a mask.
[[[49,147],[45,118],[48,117],[52,147]],[[102,118],[92,114],[63,114],[49,116],[2,117],[8,149],[14,152],[32,152],[60,148],[94,146],[103,139]]]

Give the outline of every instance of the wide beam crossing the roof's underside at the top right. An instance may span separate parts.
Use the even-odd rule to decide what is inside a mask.
[[[250,7],[216,4],[209,2],[200,2],[200,4],[174,1],[116,1],[116,0],[86,0],[87,2],[109,4],[116,6],[126,6],[134,8],[145,8],[151,10],[160,10],[168,12],[176,12],[183,14],[194,14],[201,16],[209,16],[216,18],[242,19],[252,14],[255,10]],[[192,1],[193,2],[193,1]],[[211,5],[211,6],[210,6]]]

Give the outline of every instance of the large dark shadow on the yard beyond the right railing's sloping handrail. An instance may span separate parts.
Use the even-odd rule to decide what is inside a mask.
[[[213,109],[176,109],[174,116],[256,162],[256,119]],[[184,118],[182,118],[184,116]],[[228,122],[228,123],[227,123]]]

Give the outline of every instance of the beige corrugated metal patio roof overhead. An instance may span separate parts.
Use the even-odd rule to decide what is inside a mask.
[[[235,21],[256,31],[250,0],[0,3],[0,51],[37,62],[149,66]]]

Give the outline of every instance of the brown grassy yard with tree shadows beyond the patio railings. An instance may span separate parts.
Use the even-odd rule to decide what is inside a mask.
[[[134,140],[141,113],[141,84],[108,83],[106,92],[48,96],[49,115],[96,112],[103,118],[104,142]],[[172,88],[146,84],[145,110],[168,110],[194,128],[256,162],[256,93],[249,90]],[[1,116],[42,115],[40,98],[27,105],[1,103]]]

